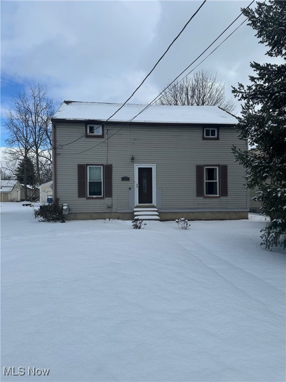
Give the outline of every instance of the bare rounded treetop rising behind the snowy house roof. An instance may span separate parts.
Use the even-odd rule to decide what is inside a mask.
[[[159,105],[219,106],[231,112],[234,103],[226,98],[225,88],[210,71],[200,70],[192,77],[176,80],[163,91],[156,102]]]

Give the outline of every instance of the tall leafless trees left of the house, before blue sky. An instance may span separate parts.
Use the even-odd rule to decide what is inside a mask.
[[[5,156],[11,171],[16,163],[25,163],[29,158],[35,166],[36,183],[41,184],[42,178],[47,178],[47,168],[52,166],[51,117],[55,112],[54,102],[47,95],[47,87],[40,84],[29,85],[27,92],[20,92],[11,101],[13,105],[4,122],[8,131]],[[24,176],[26,189],[25,179]]]

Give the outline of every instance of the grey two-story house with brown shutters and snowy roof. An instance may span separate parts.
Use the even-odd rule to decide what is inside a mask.
[[[69,219],[248,218],[245,171],[231,152],[247,142],[233,115],[121,106],[64,101],[52,118],[53,197],[68,204]]]

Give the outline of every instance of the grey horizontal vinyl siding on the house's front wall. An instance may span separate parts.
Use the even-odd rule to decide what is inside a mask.
[[[235,128],[222,126],[219,140],[203,140],[201,126],[125,126],[108,141],[92,148],[121,127],[105,126],[104,138],[84,136],[60,148],[84,135],[85,125],[56,123],[57,197],[60,203],[69,203],[73,212],[108,212],[110,203],[113,212],[130,210],[135,164],[156,165],[156,188],[162,210],[247,208],[244,169],[234,162],[231,152],[232,144],[246,150],[246,142],[236,138]],[[92,149],[78,154],[89,148]],[[78,198],[77,164],[112,164],[112,198]],[[228,196],[197,197],[196,165],[227,165]],[[130,177],[130,181],[121,181],[124,176]]]

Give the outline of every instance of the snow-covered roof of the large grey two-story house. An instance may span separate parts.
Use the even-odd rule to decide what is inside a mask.
[[[64,101],[52,120],[107,120],[121,103]],[[135,117],[146,105],[126,104],[110,121],[126,122]],[[192,123],[192,124],[231,124],[237,119],[218,106],[169,106],[152,105],[138,115],[133,122],[147,123]]]

